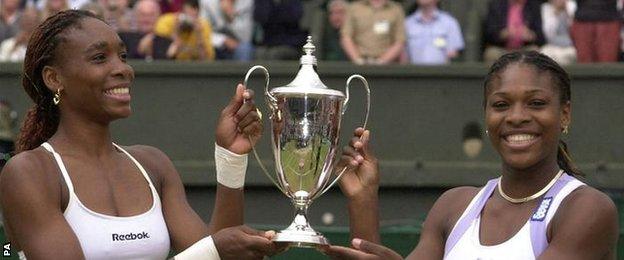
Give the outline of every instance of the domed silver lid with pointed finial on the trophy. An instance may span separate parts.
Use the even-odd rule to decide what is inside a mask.
[[[316,47],[312,44],[312,36],[308,36],[307,43],[303,46],[304,55],[301,56],[301,67],[295,79],[286,86],[277,87],[270,92],[273,95],[299,96],[305,94],[338,96],[344,98],[345,95],[334,89],[330,89],[319,78],[316,73],[316,57],[312,54]]]

